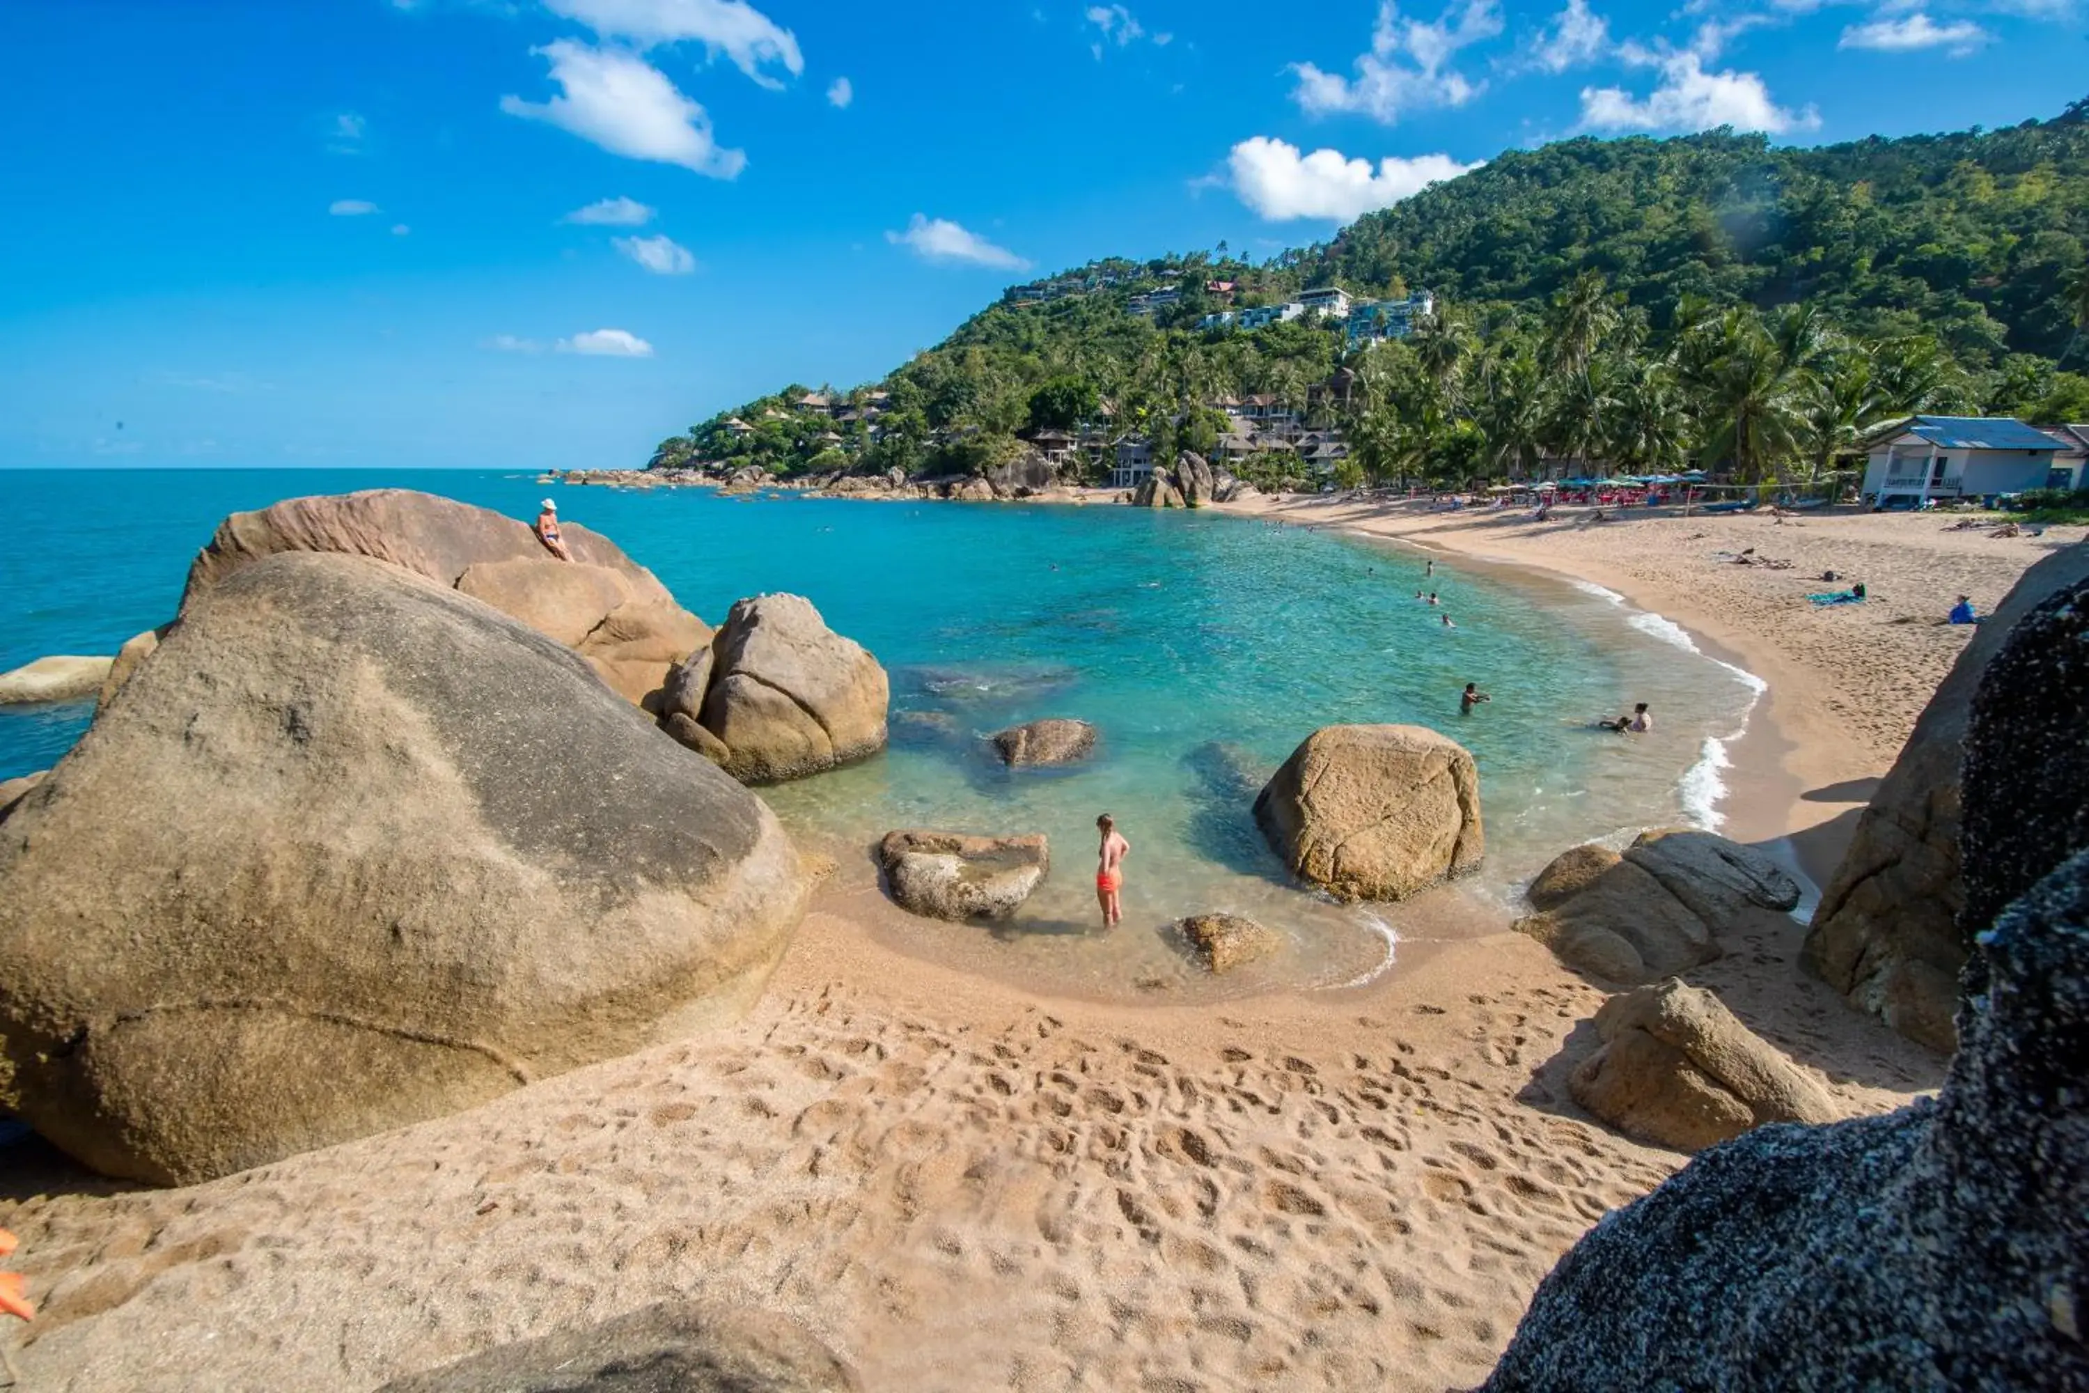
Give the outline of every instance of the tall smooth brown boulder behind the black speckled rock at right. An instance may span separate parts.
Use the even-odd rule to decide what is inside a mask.
[[[2076,543],[2026,570],[1987,616],[1857,817],[1842,865],[1813,911],[1805,965],[1853,1007],[1934,1050],[1953,1044],[1951,1013],[1968,950],[1959,929],[1959,760],[1974,693],[2010,629],[2085,579],[2089,545]],[[2024,695],[2012,691],[2008,700]]]

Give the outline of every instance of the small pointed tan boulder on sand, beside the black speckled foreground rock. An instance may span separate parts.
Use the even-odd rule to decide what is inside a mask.
[[[1575,1103],[1661,1147],[1696,1151],[1765,1122],[1842,1115],[1726,1002],[1675,977],[1602,1002],[1596,1036],[1602,1046],[1567,1080]]]

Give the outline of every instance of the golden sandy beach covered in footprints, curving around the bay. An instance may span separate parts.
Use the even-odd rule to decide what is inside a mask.
[[[1799,833],[1809,869],[1959,650],[1930,620],[2081,537],[1253,510],[1682,622],[1769,683],[1728,831]],[[1792,568],[1713,560],[1744,547]],[[1826,568],[1872,599],[1815,610]],[[746,1021],[470,1113],[182,1190],[13,1149],[0,1226],[42,1303],[6,1332],[19,1387],[366,1391],[704,1297],[788,1314],[867,1389],[1464,1389],[1558,1255],[1686,1161],[1569,1101],[1604,992],[1506,923],[1368,988],[1103,1007],[902,950],[846,913],[859,883]],[[1934,1088],[1941,1059],[1799,973],[1801,936],[1759,913],[1690,979],[1851,1111]]]

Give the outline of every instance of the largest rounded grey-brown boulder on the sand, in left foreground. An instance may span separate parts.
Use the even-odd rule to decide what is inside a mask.
[[[804,900],[760,800],[568,647],[257,558],[0,825],[0,1105],[221,1176],[727,1021]]]

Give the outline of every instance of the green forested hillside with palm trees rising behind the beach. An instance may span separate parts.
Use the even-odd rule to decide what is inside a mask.
[[[1817,472],[1916,409],[2089,420],[2085,263],[2089,100],[1820,148],[1567,140],[1262,263],[1220,244],[1013,288],[882,384],[827,407],[792,384],[664,441],[654,466],[963,472],[1040,428],[1172,457],[1210,447],[1205,403],[1262,393],[1343,430],[1349,478],[1475,478],[1544,453]],[[1199,328],[1320,284],[1431,290],[1435,313],[1377,347],[1335,320]],[[1134,313],[1161,286],[1178,299]],[[1354,378],[1316,393],[1337,368]],[[1249,464],[1299,472],[1281,445]]]

